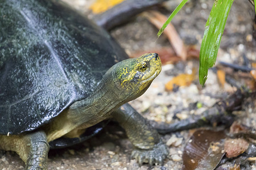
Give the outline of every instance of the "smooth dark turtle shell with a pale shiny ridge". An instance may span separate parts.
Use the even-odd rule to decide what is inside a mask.
[[[51,121],[127,58],[102,28],[55,1],[0,1],[0,134]]]

